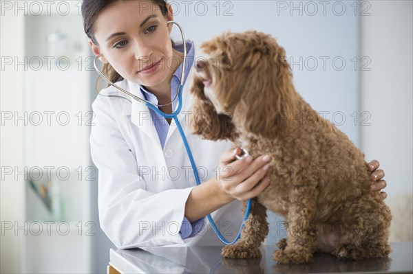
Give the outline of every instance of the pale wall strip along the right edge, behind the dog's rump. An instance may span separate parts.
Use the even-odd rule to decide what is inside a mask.
[[[413,2],[371,3],[371,15],[361,17],[361,55],[372,60],[361,73],[361,110],[371,113],[371,125],[361,126],[361,148],[385,170],[390,240],[412,241]]]

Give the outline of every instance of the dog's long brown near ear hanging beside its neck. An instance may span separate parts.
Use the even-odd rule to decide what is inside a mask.
[[[275,43],[275,42],[274,42]],[[295,91],[286,52],[275,43],[271,56],[250,54],[244,91],[234,111],[235,123],[258,137],[275,138],[288,133],[293,117]]]

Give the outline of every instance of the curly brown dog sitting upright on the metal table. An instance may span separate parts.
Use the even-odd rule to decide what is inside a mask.
[[[271,155],[271,183],[254,198],[242,238],[222,255],[259,258],[270,209],[288,227],[273,254],[279,263],[311,262],[317,249],[353,260],[385,258],[392,216],[371,190],[363,152],[295,91],[284,49],[255,31],[225,32],[201,48],[207,57],[195,64],[193,132],[229,139],[253,157]],[[323,233],[336,242],[333,250],[319,240]]]

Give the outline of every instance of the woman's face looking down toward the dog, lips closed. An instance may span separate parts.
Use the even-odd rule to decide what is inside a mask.
[[[98,46],[94,54],[103,54],[103,62],[127,80],[145,87],[169,86],[176,69],[176,58],[169,34],[173,20],[162,15],[151,1],[118,1],[101,12],[94,22],[94,36]],[[173,65],[171,65],[173,64]],[[168,66],[169,65],[169,66]]]

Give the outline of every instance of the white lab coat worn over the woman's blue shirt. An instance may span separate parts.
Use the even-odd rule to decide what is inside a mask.
[[[217,175],[219,157],[231,144],[191,134],[191,74],[184,85],[179,117],[203,182]],[[118,85],[143,98],[137,84],[123,80]],[[185,203],[196,184],[176,124],[171,123],[162,150],[145,104],[114,87],[100,93],[131,100],[98,95],[92,104],[96,116],[90,144],[98,168],[99,220],[109,239],[118,248],[222,244],[207,218],[197,236],[184,240],[180,236]],[[240,202],[234,201],[211,215],[224,236],[233,240],[242,222]]]

